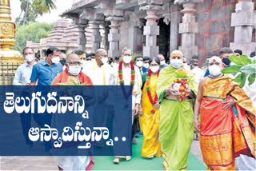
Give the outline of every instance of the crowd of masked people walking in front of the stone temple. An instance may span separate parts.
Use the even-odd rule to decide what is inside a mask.
[[[235,157],[248,156],[248,167],[251,163],[247,161],[255,158],[256,93],[255,87],[251,88],[255,84],[242,89],[232,75],[222,74],[223,68],[232,66],[230,55],[239,56],[241,50],[223,48],[219,54],[206,58],[206,67],[200,68],[198,56],[189,60],[179,50],[170,53],[170,58],[162,54],[133,57],[132,51],[124,48],[120,58],[112,59],[104,49],[87,56],[78,50],[66,57],[57,48],[49,48],[46,59],[35,62],[34,51],[26,47],[26,62],[18,67],[14,85],[131,85],[132,142],[137,143],[135,134],[141,130],[142,157],[162,156],[166,170],[186,169],[195,129],[200,132],[207,169],[234,170]],[[254,56],[255,52],[250,59],[255,60]],[[188,84],[182,99],[182,86],[174,87],[178,70],[186,74]],[[93,157],[82,158],[62,157],[58,167],[92,169]],[[116,156],[114,163],[122,159],[131,157]],[[84,162],[81,165],[79,161]]]

